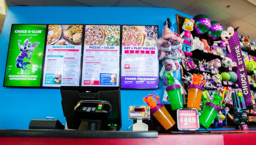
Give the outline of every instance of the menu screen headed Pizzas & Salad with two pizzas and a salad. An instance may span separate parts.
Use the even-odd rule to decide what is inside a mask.
[[[119,86],[121,25],[85,25],[82,86]]]

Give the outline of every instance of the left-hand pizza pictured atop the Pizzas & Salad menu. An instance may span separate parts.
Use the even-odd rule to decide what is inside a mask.
[[[103,29],[99,26],[92,25],[85,28],[85,45],[100,45],[105,37]]]

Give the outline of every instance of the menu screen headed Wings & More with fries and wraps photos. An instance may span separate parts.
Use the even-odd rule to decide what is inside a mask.
[[[42,86],[79,86],[83,27],[48,25]]]

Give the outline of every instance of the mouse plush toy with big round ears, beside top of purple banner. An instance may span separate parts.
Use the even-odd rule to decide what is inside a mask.
[[[228,30],[222,31],[222,34],[220,36],[220,41],[213,41],[213,43],[220,44],[219,46],[222,48],[224,55],[226,56],[226,48],[228,49],[228,52],[231,53],[230,47],[229,47],[229,38],[234,35],[234,29],[232,27],[228,27]]]

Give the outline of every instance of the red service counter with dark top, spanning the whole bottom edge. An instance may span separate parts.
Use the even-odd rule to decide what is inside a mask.
[[[256,130],[222,130],[190,133],[157,131],[73,131],[73,130],[0,130],[0,144],[8,145],[234,145],[255,144]]]

